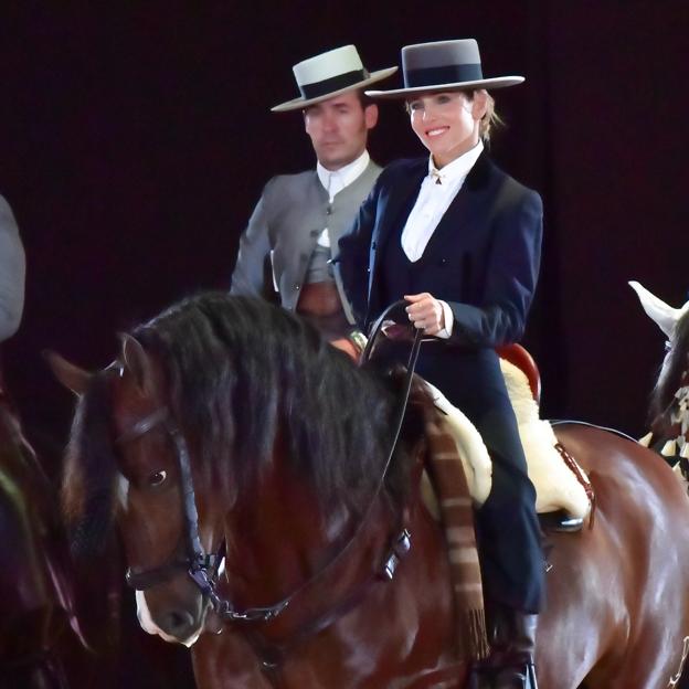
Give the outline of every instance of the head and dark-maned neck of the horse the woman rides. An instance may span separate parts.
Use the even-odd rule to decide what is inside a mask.
[[[75,542],[116,522],[146,630],[192,645],[220,619],[267,622],[321,571],[336,593],[328,563],[354,537],[349,584],[388,547],[410,470],[379,495],[392,391],[282,309],[191,299],[94,375],[53,368],[81,394],[63,486]]]

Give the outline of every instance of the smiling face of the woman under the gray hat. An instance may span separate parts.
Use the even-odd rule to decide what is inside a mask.
[[[420,94],[406,102],[412,129],[431,151],[437,168],[478,144],[486,98],[485,91],[475,92],[473,97],[454,91]]]

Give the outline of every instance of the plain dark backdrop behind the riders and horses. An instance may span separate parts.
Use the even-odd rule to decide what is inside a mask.
[[[29,264],[3,357],[49,470],[72,401],[41,350],[103,367],[118,330],[229,287],[263,184],[314,165],[300,116],[268,108],[297,95],[294,63],[346,43],[378,70],[475,36],[487,76],[527,76],[496,94],[492,155],[545,205],[543,414],[645,433],[664,338],[626,282],[687,298],[688,34],[682,0],[2,3],[0,193]],[[370,148],[423,152],[389,104]]]

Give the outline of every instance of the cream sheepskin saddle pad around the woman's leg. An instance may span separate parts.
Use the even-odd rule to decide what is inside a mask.
[[[536,487],[537,512],[563,509],[572,517],[585,519],[591,509],[586,491],[555,449],[558,438],[550,423],[539,418],[538,404],[531,395],[527,377],[504,359],[500,360],[500,367],[517,416],[529,478]],[[469,491],[475,502],[480,506],[490,492],[492,480],[488,449],[474,424],[437,388],[427,382],[425,384],[435,405],[445,414],[444,421],[457,444]],[[583,470],[577,468],[585,479]]]

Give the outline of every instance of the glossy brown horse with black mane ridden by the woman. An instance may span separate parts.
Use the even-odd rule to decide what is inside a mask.
[[[414,407],[380,489],[392,379],[289,314],[224,295],[137,328],[95,375],[55,368],[82,394],[64,478],[77,547],[117,522],[141,624],[192,645],[201,689],[463,686]],[[638,444],[556,433],[597,509],[593,529],[550,537],[540,685],[672,687],[689,644],[689,501]],[[386,580],[402,522],[411,549]]]

